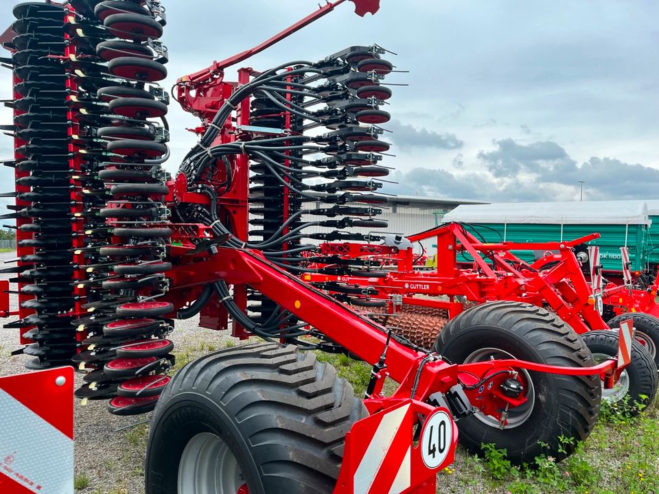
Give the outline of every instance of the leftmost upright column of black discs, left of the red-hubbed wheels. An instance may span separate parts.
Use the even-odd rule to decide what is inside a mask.
[[[34,357],[26,366],[36,369],[65,365],[76,353],[66,72],[55,58],[64,55],[64,12],[43,3],[13,12],[16,161],[9,164],[24,176],[3,194],[16,197],[15,212],[3,217],[16,218],[21,253],[19,266],[5,272],[18,274],[11,281],[19,283],[21,310],[32,314],[5,327],[27,330],[34,343],[21,352]]]

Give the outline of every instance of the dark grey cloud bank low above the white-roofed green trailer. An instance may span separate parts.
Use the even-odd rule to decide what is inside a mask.
[[[579,180],[590,200],[659,198],[659,170],[614,158],[592,157],[577,163],[557,143],[543,141],[522,145],[513,139],[496,141],[494,150],[478,154],[481,167],[468,171],[414,168],[396,172],[395,186],[385,189],[401,195],[464,198],[491,201],[576,200]],[[471,167],[474,169],[474,167]]]

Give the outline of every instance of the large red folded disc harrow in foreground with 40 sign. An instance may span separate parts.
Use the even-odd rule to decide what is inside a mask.
[[[225,69],[344,1],[178,80],[174,98],[202,123],[174,176],[162,166],[159,1],[20,3],[2,37],[14,74],[5,165],[16,174],[4,217],[18,240],[5,272],[19,299],[5,328],[20,330],[29,368],[84,373],[81,399],[120,415],[155,410],[148,493],[435,493],[456,421],[471,449],[494,442],[516,462],[562,458],[570,448],[559,436],[588,436],[600,380],[611,388],[631,360],[631,323],[619,353],[618,333],[591,333],[616,346],[597,364],[574,329],[520,300],[454,317],[441,337],[465,362],[455,364],[300,279],[309,253],[342,262],[310,241],[386,240],[349,229],[386,226],[386,198],[373,192],[389,173],[378,137],[393,64],[378,45],[354,45],[318,62],[239,69],[237,80]],[[358,14],[378,10],[351,1]],[[197,315],[266,343],[209,353],[171,376],[167,335]],[[364,399],[310,350],[371,364]],[[386,378],[399,384],[388,397]]]

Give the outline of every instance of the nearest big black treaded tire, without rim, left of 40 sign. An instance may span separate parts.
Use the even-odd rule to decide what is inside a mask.
[[[205,355],[179,371],[159,399],[146,494],[178,492],[185,446],[204,433],[229,447],[251,494],[332,492],[345,434],[365,416],[350,384],[313,353],[253,344]]]

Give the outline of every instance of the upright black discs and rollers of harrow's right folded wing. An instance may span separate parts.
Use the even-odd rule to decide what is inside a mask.
[[[307,149],[299,149],[299,142],[292,141],[286,154],[280,150],[266,152],[267,164],[253,157],[250,165],[251,224],[256,226],[250,231],[251,239],[268,242],[279,236],[286,252],[292,253],[286,257],[270,256],[270,260],[294,272],[304,270],[299,266],[308,258],[299,252],[309,240],[377,242],[382,239],[381,235],[369,234],[375,228],[387,226],[386,222],[375,219],[382,209],[374,206],[386,203],[386,198],[373,194],[382,187],[378,178],[389,174],[389,169],[378,165],[389,144],[378,137],[384,132],[379,125],[386,124],[390,118],[380,107],[391,97],[391,89],[381,81],[393,66],[381,54],[384,50],[377,46],[349,47],[314,64],[321,71],[319,75],[291,78],[291,91],[281,88],[278,92],[260,91],[251,102],[253,126],[287,129],[292,135],[312,134],[306,141],[312,146]],[[292,107],[291,112],[285,111],[287,104]],[[276,163],[281,165],[279,176],[273,173],[273,168],[278,169]],[[297,190],[286,187],[284,181]],[[323,202],[327,207],[317,207]],[[306,214],[300,214],[303,211]],[[282,231],[287,218],[291,220]],[[314,229],[305,231],[308,226]],[[287,232],[297,234],[286,236]],[[269,246],[268,250],[273,247]],[[371,268],[356,259],[314,259],[331,264],[332,268],[328,269],[332,274]],[[275,310],[275,304],[260,294],[250,294],[249,298],[257,320],[263,322]],[[347,295],[343,298],[349,301]]]

